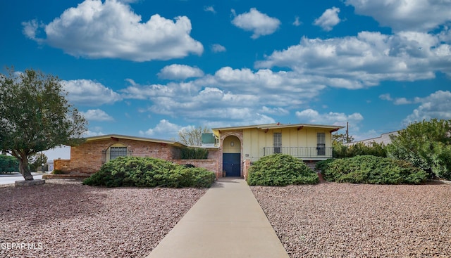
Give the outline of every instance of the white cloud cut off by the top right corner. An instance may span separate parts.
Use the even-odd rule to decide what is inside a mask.
[[[354,6],[357,14],[371,16],[397,32],[428,32],[451,20],[448,0],[346,0],[345,4]]]

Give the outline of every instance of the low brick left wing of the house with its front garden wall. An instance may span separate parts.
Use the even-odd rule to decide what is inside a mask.
[[[116,157],[137,156],[156,157],[179,165],[205,167],[219,174],[216,159],[180,160],[182,148],[187,146],[177,141],[117,134],[94,136],[86,138],[85,143],[80,146],[71,146],[70,160],[54,160],[54,169],[73,176],[89,176],[99,171],[101,165]]]

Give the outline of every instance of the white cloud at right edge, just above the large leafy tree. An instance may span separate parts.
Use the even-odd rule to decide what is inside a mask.
[[[415,102],[421,103],[421,105],[404,119],[404,125],[412,122],[431,120],[432,118],[451,119],[450,91],[435,91],[425,98],[415,98]]]

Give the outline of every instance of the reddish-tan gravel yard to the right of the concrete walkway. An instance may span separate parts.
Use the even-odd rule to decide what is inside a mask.
[[[252,186],[291,258],[451,257],[451,185]]]

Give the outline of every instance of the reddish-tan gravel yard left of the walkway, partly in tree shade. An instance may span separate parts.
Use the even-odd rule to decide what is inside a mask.
[[[145,257],[204,193],[56,179],[1,187],[0,257]]]

